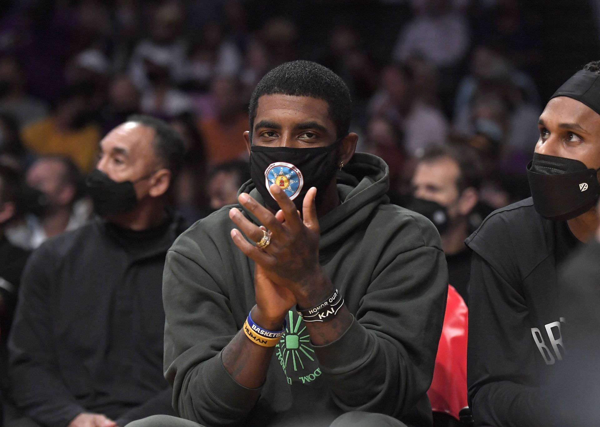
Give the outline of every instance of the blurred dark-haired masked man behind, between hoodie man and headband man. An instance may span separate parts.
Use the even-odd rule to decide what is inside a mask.
[[[409,208],[428,217],[440,232],[449,282],[466,303],[471,254],[464,240],[473,230],[469,220],[479,201],[481,174],[475,153],[444,145],[425,150],[412,178],[415,199]]]

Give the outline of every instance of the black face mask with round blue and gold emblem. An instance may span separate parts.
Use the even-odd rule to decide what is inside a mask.
[[[302,211],[302,201],[310,187],[317,187],[319,204],[325,188],[331,183],[337,170],[332,151],[337,150],[340,140],[326,147],[250,147],[250,177],[265,205],[279,210],[271,196],[269,186],[277,184]]]

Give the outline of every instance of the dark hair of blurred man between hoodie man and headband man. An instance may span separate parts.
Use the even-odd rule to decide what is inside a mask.
[[[467,147],[458,145],[430,145],[418,158],[418,162],[434,162],[440,159],[452,159],[457,163],[460,175],[457,178],[458,192],[469,187],[481,188],[483,170],[477,154]]]

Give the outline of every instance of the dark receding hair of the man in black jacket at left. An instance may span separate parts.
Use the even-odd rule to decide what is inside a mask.
[[[179,175],[185,157],[185,144],[179,132],[169,126],[164,120],[144,114],[134,114],[127,121],[139,123],[154,129],[154,150],[164,166],[171,171],[173,179]],[[173,182],[173,180],[172,180]]]

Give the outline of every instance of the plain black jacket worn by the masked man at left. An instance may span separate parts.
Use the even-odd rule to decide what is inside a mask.
[[[179,220],[132,232],[97,219],[31,255],[9,339],[11,394],[42,425],[82,412],[119,426],[169,414],[161,277]]]

